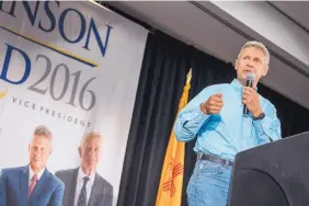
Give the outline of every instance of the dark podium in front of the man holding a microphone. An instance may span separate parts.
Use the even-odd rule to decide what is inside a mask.
[[[236,156],[228,206],[308,206],[309,133]]]

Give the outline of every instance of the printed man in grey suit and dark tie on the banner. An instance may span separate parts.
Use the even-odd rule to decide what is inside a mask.
[[[66,187],[62,206],[112,206],[113,186],[96,172],[102,144],[99,133],[85,134],[78,149],[80,167],[55,173]]]

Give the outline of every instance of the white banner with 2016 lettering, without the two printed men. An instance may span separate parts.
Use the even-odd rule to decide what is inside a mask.
[[[0,169],[28,163],[37,125],[53,133],[52,172],[77,168],[81,136],[99,131],[116,205],[146,38],[90,1],[0,1]]]

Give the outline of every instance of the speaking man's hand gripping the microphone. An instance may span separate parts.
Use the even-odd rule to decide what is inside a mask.
[[[254,117],[258,117],[263,112],[260,104],[259,94],[252,88],[243,88],[242,103],[247,105],[248,110],[252,113]]]

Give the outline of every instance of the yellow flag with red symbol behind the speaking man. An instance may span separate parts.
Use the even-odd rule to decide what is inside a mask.
[[[187,104],[192,70],[186,76],[178,113]],[[161,173],[156,206],[181,206],[184,172],[184,142],[178,141],[172,129]]]

